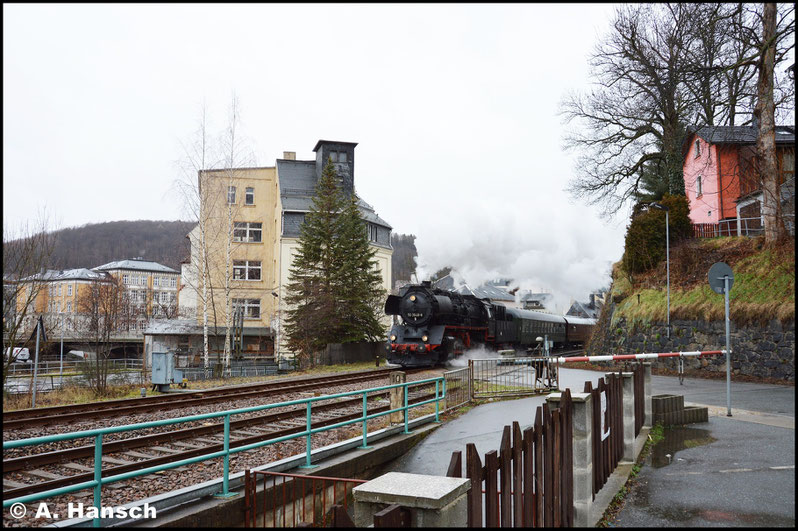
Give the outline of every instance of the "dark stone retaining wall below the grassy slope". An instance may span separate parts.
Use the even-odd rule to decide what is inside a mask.
[[[614,309],[614,305],[608,308]],[[629,327],[621,318],[610,324],[611,316],[599,322],[589,353],[638,354],[643,352],[679,352],[723,350],[726,348],[725,321],[671,321],[668,338],[665,323]],[[729,323],[731,368],[733,374],[795,381],[795,321],[771,321],[767,326],[737,327]],[[726,372],[726,357],[685,358],[685,369]],[[678,358],[654,362],[654,367],[678,369]]]

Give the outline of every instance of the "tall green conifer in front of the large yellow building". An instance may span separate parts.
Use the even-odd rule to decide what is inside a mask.
[[[287,286],[288,348],[307,357],[328,343],[381,337],[382,279],[374,250],[356,200],[341,191],[330,161],[300,230]]]

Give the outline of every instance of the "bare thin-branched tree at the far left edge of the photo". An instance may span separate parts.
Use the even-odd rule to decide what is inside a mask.
[[[46,268],[53,255],[55,238],[49,216],[42,210],[38,217],[16,229],[3,222],[3,384],[9,368],[16,361],[16,347],[25,347],[37,312],[36,300],[46,284],[30,278]],[[33,347],[33,345],[31,345]],[[7,353],[7,355],[5,355]]]

